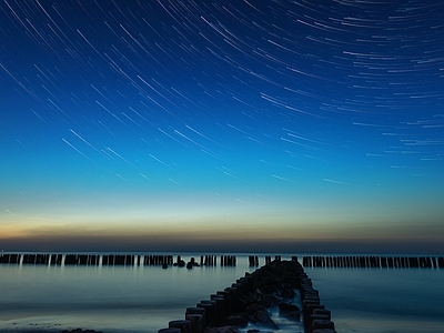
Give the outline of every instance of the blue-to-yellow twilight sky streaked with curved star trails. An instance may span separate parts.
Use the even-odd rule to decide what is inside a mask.
[[[443,253],[443,1],[0,2],[0,246]]]

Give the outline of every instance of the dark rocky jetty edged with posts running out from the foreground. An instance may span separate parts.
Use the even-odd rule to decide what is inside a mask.
[[[255,264],[254,258],[250,258],[252,262]],[[284,329],[270,315],[272,307],[307,333],[336,332],[331,312],[321,304],[317,290],[293,256],[291,261],[276,259],[245,273],[231,286],[186,307],[183,319],[170,321],[158,333],[236,333],[249,324],[254,327],[251,332]]]

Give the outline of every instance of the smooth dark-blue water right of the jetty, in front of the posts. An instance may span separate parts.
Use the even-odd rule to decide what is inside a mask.
[[[444,270],[309,269],[339,332],[444,332]]]

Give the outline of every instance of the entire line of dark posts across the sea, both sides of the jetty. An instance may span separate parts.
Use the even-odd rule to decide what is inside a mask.
[[[161,265],[172,266],[235,266],[235,255],[204,254],[192,258],[186,264],[180,255],[171,254],[48,254],[48,253],[1,253],[0,264],[36,265]],[[258,255],[249,255],[249,266],[260,266]],[[280,255],[265,255],[263,263],[281,260]],[[443,256],[303,256],[305,268],[381,268],[381,269],[444,269]]]

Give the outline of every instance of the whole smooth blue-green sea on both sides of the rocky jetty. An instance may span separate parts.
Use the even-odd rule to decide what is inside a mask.
[[[198,262],[202,255],[124,254],[171,254],[174,261],[176,255],[181,255],[185,261],[195,258]],[[191,270],[143,264],[0,264],[0,332],[82,329],[110,333],[157,333],[168,327],[170,321],[184,319],[186,307],[195,306],[216,291],[231,286],[245,272],[253,272],[256,268],[249,265],[249,255],[258,255],[260,266],[265,263],[265,254],[211,254],[218,258],[216,265]],[[235,255],[236,265],[221,266],[221,255]],[[270,255],[274,258],[278,254]],[[303,255],[312,254],[279,255],[282,260],[296,256],[302,263]],[[331,311],[339,333],[444,332],[444,269],[304,270],[319,291],[321,303]],[[297,297],[294,302],[297,304]],[[280,317],[276,309],[271,309],[271,315],[280,326],[279,332],[303,332],[302,322]],[[241,332],[253,329],[261,330],[250,325]],[[262,332],[270,330],[262,329]]]

